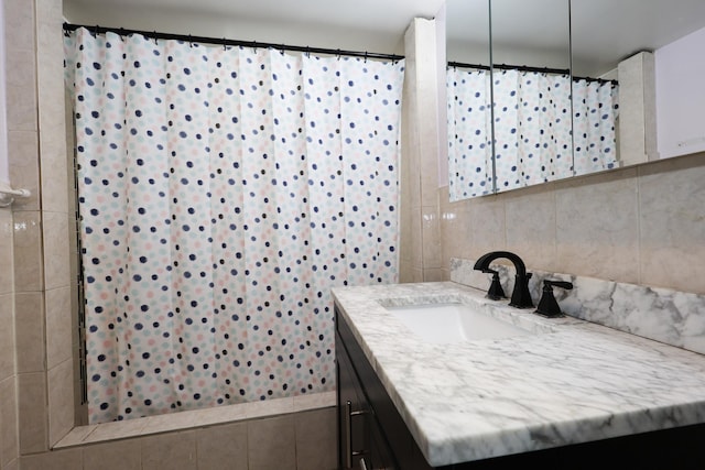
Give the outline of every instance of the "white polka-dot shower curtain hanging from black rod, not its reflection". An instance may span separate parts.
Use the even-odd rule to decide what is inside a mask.
[[[403,63],[66,37],[90,423],[334,387],[329,288],[397,282]]]

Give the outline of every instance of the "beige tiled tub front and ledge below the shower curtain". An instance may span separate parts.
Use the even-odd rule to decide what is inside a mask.
[[[75,427],[22,468],[333,470],[335,392]]]

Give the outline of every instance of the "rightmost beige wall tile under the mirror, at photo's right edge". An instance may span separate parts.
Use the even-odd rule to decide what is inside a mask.
[[[640,167],[641,283],[705,294],[705,154]]]

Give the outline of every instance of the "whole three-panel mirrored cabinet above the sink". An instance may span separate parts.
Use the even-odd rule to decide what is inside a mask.
[[[477,11],[466,15],[470,8],[466,3],[446,2],[449,62],[465,62],[467,51],[481,48],[477,35],[471,47],[464,47],[464,32],[487,30]],[[491,19],[486,21],[491,24],[495,100],[486,109],[492,116],[489,130],[471,129],[475,135],[489,133],[491,149],[482,149],[480,157],[470,155],[467,138],[457,127],[468,118],[456,106],[448,119],[448,156],[456,161],[449,173],[451,200],[705,151],[701,118],[705,89],[698,85],[705,74],[702,0],[469,3],[478,3],[478,9],[491,6],[487,8]],[[489,40],[489,34],[485,37]],[[532,84],[527,85],[544,81],[543,88],[509,100],[530,88],[524,86],[528,79]],[[564,92],[556,94],[561,88],[572,89],[573,99],[565,101]],[[481,88],[480,95],[485,92]],[[457,96],[448,86],[448,99]],[[532,103],[546,97],[538,116],[524,112],[535,111]],[[539,129],[538,136],[533,128]],[[463,161],[471,163],[463,167]]]

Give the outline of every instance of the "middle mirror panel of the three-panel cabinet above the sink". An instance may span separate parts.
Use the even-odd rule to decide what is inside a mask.
[[[497,192],[573,175],[568,4],[490,2]]]

